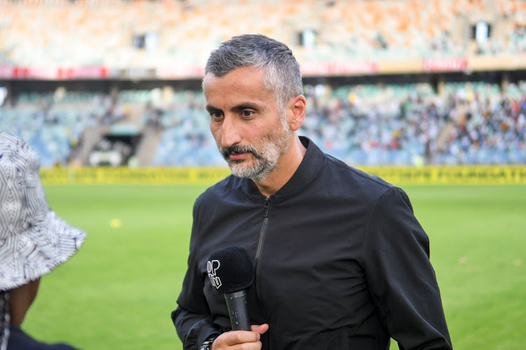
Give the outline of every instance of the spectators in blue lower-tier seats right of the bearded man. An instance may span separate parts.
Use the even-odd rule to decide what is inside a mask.
[[[340,87],[314,103],[306,136],[349,164],[526,162],[526,83]],[[313,97],[311,97],[312,99]]]

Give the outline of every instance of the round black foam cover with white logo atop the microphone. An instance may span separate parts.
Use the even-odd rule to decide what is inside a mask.
[[[210,282],[219,293],[235,293],[252,285],[254,268],[245,249],[239,246],[215,251],[206,264]]]

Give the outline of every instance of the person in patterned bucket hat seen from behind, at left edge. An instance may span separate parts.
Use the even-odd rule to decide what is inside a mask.
[[[7,132],[0,132],[0,200],[0,350],[74,349],[39,342],[20,326],[41,276],[71,258],[86,232],[49,209],[38,156]]]

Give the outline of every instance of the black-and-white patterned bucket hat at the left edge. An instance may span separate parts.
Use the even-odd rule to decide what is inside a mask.
[[[86,239],[49,209],[39,167],[29,145],[0,132],[0,290],[47,274]]]

